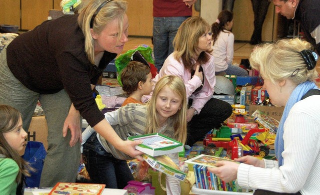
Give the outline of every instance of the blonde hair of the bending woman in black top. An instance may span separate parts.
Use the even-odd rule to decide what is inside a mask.
[[[78,25],[84,35],[84,49],[89,61],[94,64],[94,40],[90,33],[90,22],[94,12],[105,1],[91,0],[88,5],[83,8],[78,17]],[[109,24],[115,19],[118,19],[119,33],[117,40],[122,36],[123,18],[126,12],[127,3],[125,1],[113,0],[105,4],[96,14],[92,23],[92,30],[96,34],[101,33],[105,25]]]

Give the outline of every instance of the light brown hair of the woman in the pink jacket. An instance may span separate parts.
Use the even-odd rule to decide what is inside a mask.
[[[190,17],[179,27],[174,39],[174,58],[182,63],[187,70],[192,70],[194,55],[196,54],[199,38],[210,30],[210,25],[201,17]],[[207,51],[210,53],[210,51]],[[201,52],[197,61],[204,64],[209,60],[208,54]]]

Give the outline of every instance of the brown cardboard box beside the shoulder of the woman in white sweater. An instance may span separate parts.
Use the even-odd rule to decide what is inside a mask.
[[[282,106],[260,106],[260,105],[249,105],[249,116],[255,110],[260,110],[261,112],[265,113],[266,115],[270,115],[275,120],[280,121],[284,107]]]

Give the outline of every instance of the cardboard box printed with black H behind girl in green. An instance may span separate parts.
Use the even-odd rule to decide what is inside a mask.
[[[45,149],[48,148],[48,126],[43,115],[32,117],[27,134],[27,141],[39,141],[43,143]]]

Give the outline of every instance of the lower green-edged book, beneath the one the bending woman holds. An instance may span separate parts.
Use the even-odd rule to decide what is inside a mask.
[[[142,157],[152,168],[174,176],[181,181],[183,181],[187,176],[187,173],[181,171],[171,158],[166,155],[150,156],[148,154],[142,154]]]

